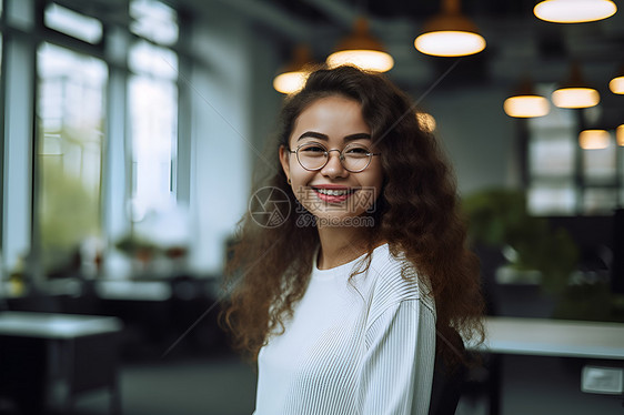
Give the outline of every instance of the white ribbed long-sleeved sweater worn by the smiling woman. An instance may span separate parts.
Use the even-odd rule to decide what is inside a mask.
[[[404,261],[375,249],[368,272],[355,260],[314,265],[285,333],[260,351],[255,415],[421,415],[429,411],[435,308]]]

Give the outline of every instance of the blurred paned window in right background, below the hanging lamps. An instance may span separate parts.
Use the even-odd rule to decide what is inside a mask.
[[[553,89],[541,85],[539,92],[550,97]],[[624,195],[615,132],[605,149],[581,149],[578,117],[578,110],[553,105],[547,115],[527,120],[527,208],[533,214],[611,214]]]

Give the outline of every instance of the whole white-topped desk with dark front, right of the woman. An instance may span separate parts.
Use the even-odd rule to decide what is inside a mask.
[[[624,324],[486,317],[490,414],[622,413],[622,396],[583,393],[584,366],[624,367]]]

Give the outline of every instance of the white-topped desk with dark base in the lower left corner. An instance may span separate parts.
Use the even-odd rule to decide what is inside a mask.
[[[66,412],[77,394],[108,387],[111,413],[119,413],[117,354],[121,330],[114,317],[0,313],[0,395],[13,401],[24,414],[41,414],[59,384],[66,388]]]

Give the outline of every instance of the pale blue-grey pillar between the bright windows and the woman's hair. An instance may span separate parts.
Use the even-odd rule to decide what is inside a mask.
[[[193,29],[189,266],[203,274],[221,271],[224,240],[245,206],[253,62],[240,17],[214,8]]]

